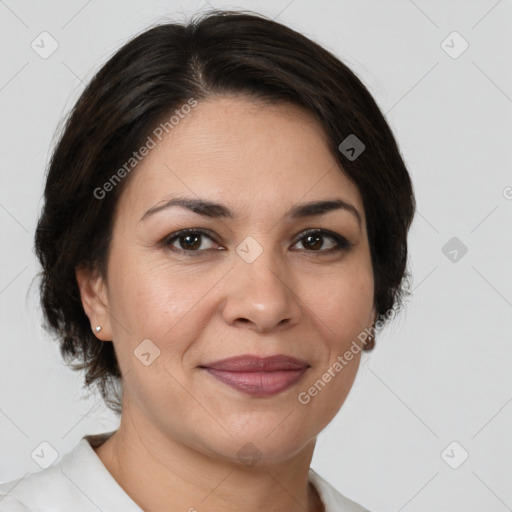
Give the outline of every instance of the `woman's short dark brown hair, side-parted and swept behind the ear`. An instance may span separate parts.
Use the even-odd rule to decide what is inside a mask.
[[[35,233],[44,327],[57,335],[64,360],[79,361],[73,369],[86,370],[85,385],[96,385],[116,413],[121,372],[114,346],[92,332],[75,270],[107,277],[114,211],[130,176],[108,194],[97,191],[175,109],[190,98],[221,95],[292,103],[316,118],[340,172],[362,196],[377,314],[401,306],[409,293],[412,183],[390,127],[358,77],[316,42],[251,11],[213,10],[185,24],[158,24],[122,46],[69,113],[48,165]],[[339,149],[349,135],[365,146],[355,159]]]

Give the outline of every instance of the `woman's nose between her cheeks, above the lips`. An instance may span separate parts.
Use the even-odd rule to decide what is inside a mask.
[[[278,264],[270,250],[251,263],[237,255],[226,283],[222,314],[227,324],[263,333],[298,322],[300,300],[292,273]]]

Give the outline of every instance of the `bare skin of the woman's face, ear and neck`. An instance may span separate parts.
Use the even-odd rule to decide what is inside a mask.
[[[77,271],[91,326],[113,341],[123,374],[121,425],[96,453],[144,510],[321,510],[308,485],[316,436],[343,404],[360,353],[308,404],[297,397],[376,319],[356,185],[309,113],[232,96],[200,102],[129,179],[107,280]],[[175,196],[222,203],[235,218],[171,207],[140,220]],[[355,206],[361,226],[343,209],[284,217],[296,204],[326,199]],[[187,250],[183,238],[159,243],[196,228],[211,239],[197,239],[188,253],[172,252]],[[308,228],[333,231],[352,246],[332,252],[328,234],[308,245],[301,236]],[[236,252],[249,236],[263,250],[252,263]],[[134,356],[145,339],[160,350],[149,366]],[[241,354],[286,354],[311,367],[265,398],[198,368]],[[253,466],[237,455],[247,443],[261,455]]]

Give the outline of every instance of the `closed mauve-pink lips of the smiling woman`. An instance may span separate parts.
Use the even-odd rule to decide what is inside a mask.
[[[298,382],[311,365],[283,354],[269,357],[236,356],[200,368],[224,384],[252,396],[272,396]]]

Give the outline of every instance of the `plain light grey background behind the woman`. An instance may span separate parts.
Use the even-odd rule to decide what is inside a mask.
[[[312,467],[375,512],[512,510],[510,0],[214,3],[263,12],[343,59],[386,113],[413,177],[413,298],[363,354]],[[200,1],[0,1],[0,482],[117,427],[40,327],[32,250],[55,130],[127,38]],[[31,42],[48,31],[58,50]],[[442,41],[469,43],[452,58]],[[447,43],[452,52],[460,41]],[[442,252],[457,237],[468,252]],[[32,286],[31,286],[32,284]],[[462,450],[468,459],[452,469]]]

